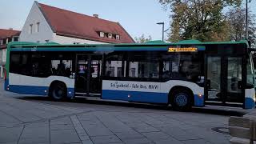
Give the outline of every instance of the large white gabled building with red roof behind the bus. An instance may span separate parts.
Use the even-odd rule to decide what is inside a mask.
[[[20,41],[58,43],[134,43],[118,22],[34,2]]]

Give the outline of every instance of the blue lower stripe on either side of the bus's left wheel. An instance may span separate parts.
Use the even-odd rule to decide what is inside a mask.
[[[7,87],[7,86],[6,86]],[[48,86],[19,86],[19,85],[10,85],[10,92],[18,94],[36,94],[36,95],[48,95]],[[67,89],[67,97],[72,98],[74,96],[74,88]]]

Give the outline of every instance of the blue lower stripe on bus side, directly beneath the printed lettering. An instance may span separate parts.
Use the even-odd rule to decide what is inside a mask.
[[[168,94],[126,90],[102,90],[102,99],[130,102],[168,103]]]

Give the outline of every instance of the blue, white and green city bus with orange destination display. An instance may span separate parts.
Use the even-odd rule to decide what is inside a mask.
[[[10,42],[5,90],[55,100],[97,98],[162,104],[175,110],[255,105],[246,41],[144,44]]]

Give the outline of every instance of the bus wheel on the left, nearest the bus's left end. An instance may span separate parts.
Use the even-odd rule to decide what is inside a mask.
[[[50,86],[50,96],[56,101],[60,101],[66,98],[66,85],[63,82],[54,82]]]

